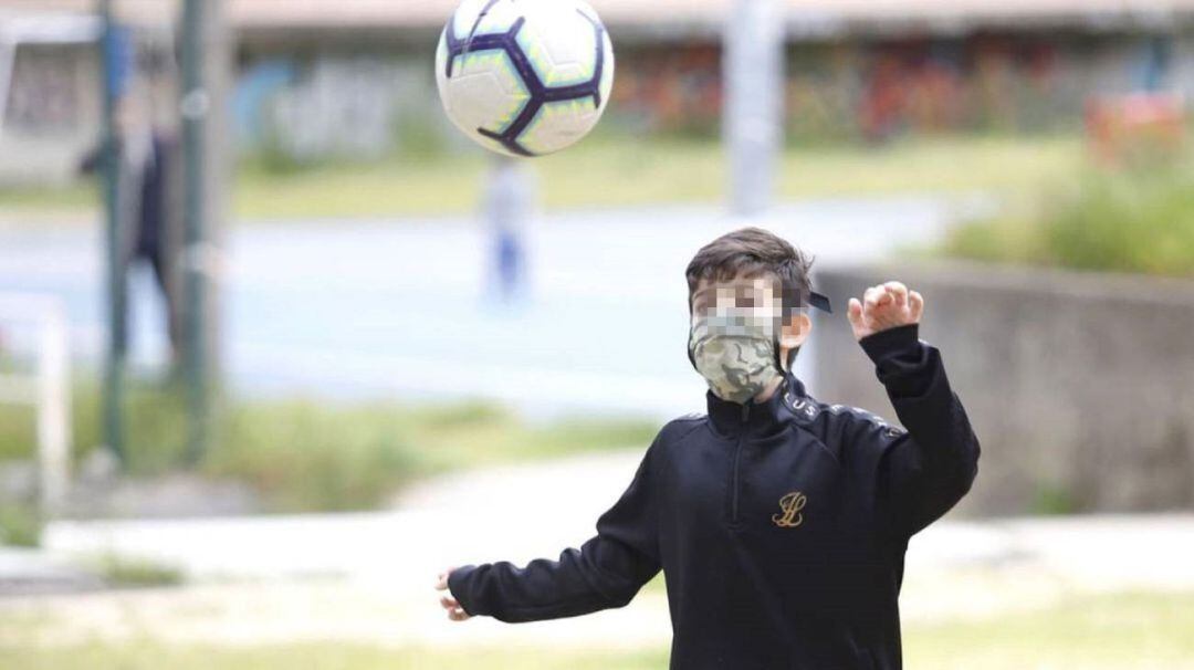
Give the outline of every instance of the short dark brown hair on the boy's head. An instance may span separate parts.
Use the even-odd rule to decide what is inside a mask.
[[[688,264],[688,308],[701,279],[728,282],[771,275],[780,282],[783,318],[794,314],[812,289],[808,271],[813,259],[783,238],[762,228],[741,228],[726,233],[701,247]]]

